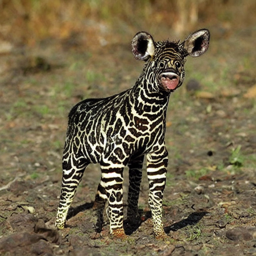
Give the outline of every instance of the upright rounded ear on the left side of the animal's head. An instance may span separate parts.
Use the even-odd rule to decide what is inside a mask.
[[[147,32],[138,32],[132,39],[132,53],[135,59],[147,61],[152,59],[155,51],[153,37]]]

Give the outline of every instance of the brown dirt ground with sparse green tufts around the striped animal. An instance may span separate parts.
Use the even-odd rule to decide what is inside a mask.
[[[98,47],[73,35],[1,52],[1,255],[256,255],[256,29],[208,28],[209,50],[188,58],[185,82],[170,96],[164,241],[152,233],[145,168],[141,217],[137,226],[125,223],[127,240],[111,238],[107,218],[95,235],[97,165],[86,169],[66,228],[53,225],[67,114],[84,98],[134,84],[143,67],[130,50],[137,31]],[[126,210],[127,169],[124,176]]]

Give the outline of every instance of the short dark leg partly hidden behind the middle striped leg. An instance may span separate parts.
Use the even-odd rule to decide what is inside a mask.
[[[94,204],[93,204],[93,209],[96,210],[96,216],[97,216],[97,221],[96,221],[96,232],[100,233],[102,230],[102,225],[103,225],[103,211],[105,208],[105,204],[107,201],[107,192],[104,185],[104,181],[102,180],[103,177],[101,177],[101,181],[98,185],[97,189],[97,194],[95,196]]]

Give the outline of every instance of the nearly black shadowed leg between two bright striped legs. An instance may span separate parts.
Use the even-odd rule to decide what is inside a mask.
[[[128,209],[127,219],[129,222],[136,222],[138,217],[138,199],[140,193],[140,183],[142,178],[142,166],[144,155],[132,159],[128,163],[129,167],[129,189],[128,189]]]

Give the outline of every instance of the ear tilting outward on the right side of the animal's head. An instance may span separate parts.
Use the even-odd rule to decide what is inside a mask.
[[[198,57],[208,49],[210,32],[208,29],[200,29],[190,34],[183,42],[183,47],[192,57]]]

